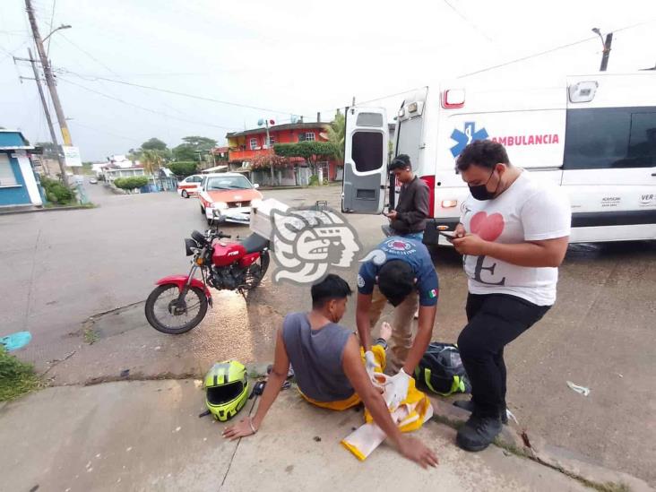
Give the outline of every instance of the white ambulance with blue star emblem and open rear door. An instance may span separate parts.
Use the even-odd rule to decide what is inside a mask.
[[[656,239],[656,73],[536,87],[456,82],[403,100],[393,154],[410,156],[431,190],[433,217],[450,229],[469,194],[455,158],[479,139],[503,143],[515,166],[564,187],[571,242]],[[342,211],[383,211],[388,141],[383,108],[347,110]],[[390,208],[395,201],[391,194]]]

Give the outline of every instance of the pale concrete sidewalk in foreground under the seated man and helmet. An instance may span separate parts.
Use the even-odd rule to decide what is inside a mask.
[[[239,418],[252,408],[249,401]],[[6,403],[0,406],[0,488],[590,490],[584,480],[495,445],[465,453],[453,444],[453,428],[437,421],[416,433],[435,449],[436,469],[422,470],[387,445],[358,462],[339,443],[362,424],[362,412],[315,409],[293,390],[281,393],[256,436],[238,443],[221,437],[223,424],[199,419],[203,410],[194,380],[59,386]],[[597,489],[649,489],[609,470],[592,467],[587,476],[594,470]]]

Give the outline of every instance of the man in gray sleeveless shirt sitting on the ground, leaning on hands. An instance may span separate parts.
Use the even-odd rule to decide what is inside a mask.
[[[255,418],[247,417],[227,427],[223,436],[233,440],[257,432],[281,392],[291,362],[298,389],[307,401],[332,410],[344,410],[364,402],[375,424],[384,430],[399,453],[423,468],[436,466],[433,451],[419,439],[401,434],[396,427],[380,390],[367,374],[358,339],[338,324],[351,294],[349,284],[330,274],[312,286],[311,294],[312,311],[285,316],[278,330],[272,372]],[[374,349],[377,365],[383,367],[384,349],[380,346]]]

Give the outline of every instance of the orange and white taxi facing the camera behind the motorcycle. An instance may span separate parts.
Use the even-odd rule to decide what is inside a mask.
[[[248,224],[251,207],[262,202],[262,194],[239,173],[217,173],[203,176],[198,192],[201,211],[207,223],[237,222]]]

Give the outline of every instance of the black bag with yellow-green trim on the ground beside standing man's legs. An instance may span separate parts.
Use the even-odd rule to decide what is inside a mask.
[[[433,393],[449,396],[470,393],[470,379],[462,366],[460,351],[453,343],[432,341],[415,369],[415,379]]]

